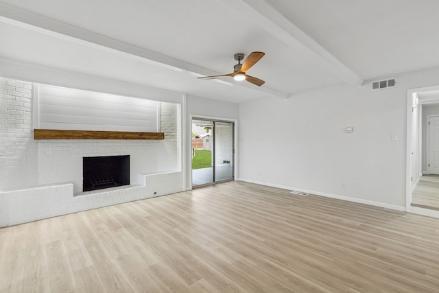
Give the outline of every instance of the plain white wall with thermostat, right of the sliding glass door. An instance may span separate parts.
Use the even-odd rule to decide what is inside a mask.
[[[366,82],[241,104],[239,178],[405,209],[407,89],[439,84],[438,75],[402,74],[381,91]]]

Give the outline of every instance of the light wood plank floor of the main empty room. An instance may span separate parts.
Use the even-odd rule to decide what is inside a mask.
[[[0,292],[438,292],[439,219],[229,182],[0,229]]]

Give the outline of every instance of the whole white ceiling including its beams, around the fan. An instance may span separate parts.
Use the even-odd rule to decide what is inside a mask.
[[[245,102],[437,67],[437,15],[436,0],[0,0],[0,58]],[[261,87],[196,78],[252,51]]]

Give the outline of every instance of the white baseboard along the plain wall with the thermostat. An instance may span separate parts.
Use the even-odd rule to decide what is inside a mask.
[[[239,178],[238,180],[239,181],[248,182],[248,183],[254,183],[254,184],[259,184],[259,185],[265,185],[265,186],[270,186],[270,187],[281,188],[281,189],[305,192],[307,194],[315,194],[316,196],[324,196],[326,198],[335,198],[337,200],[346,200],[348,202],[357,202],[357,203],[360,203],[360,204],[369,204],[369,205],[372,205],[372,206],[375,206],[375,207],[383,207],[385,209],[394,209],[396,211],[405,211],[405,207],[401,207],[401,206],[394,205],[394,204],[386,204],[386,203],[383,203],[383,202],[375,202],[373,200],[364,200],[364,199],[361,199],[361,198],[351,198],[349,196],[340,196],[340,195],[337,195],[337,194],[328,194],[326,192],[313,191],[313,190],[301,189],[301,188],[290,187],[290,186],[285,186],[285,185],[266,183],[266,182],[261,182],[261,181],[257,181],[257,180],[250,180],[250,179],[246,179],[246,178]]]

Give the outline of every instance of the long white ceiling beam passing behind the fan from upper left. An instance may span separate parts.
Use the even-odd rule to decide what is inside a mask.
[[[187,73],[195,77],[201,77],[204,75],[219,75],[215,71],[193,65],[182,60],[171,58],[163,54],[156,53],[141,47],[123,43],[113,38],[108,38],[100,34],[95,34],[87,30],[82,30],[79,27],[68,25],[54,19],[49,19],[45,16],[40,16],[32,12],[27,12],[19,8],[15,8],[10,5],[0,3],[0,22],[10,23],[19,27],[24,27],[34,32],[54,36],[62,40],[78,43],[88,47],[93,47],[102,51],[107,51],[112,54],[124,56],[127,58],[134,58],[139,62],[144,62],[150,65],[163,67],[169,70],[174,70],[182,73]],[[287,93],[281,93],[275,91],[266,86],[255,87],[251,84],[238,83],[238,82],[224,82],[217,80],[220,83],[226,83],[231,86],[242,86],[257,93],[264,93],[272,97],[281,97],[287,99]]]

